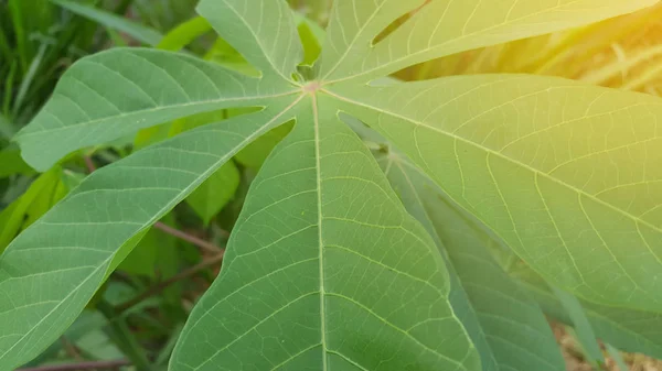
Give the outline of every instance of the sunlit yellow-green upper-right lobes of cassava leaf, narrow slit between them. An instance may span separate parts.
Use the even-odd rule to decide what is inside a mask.
[[[328,84],[370,80],[446,55],[579,26],[632,12],[656,0],[429,1],[373,45],[395,19],[424,0],[337,0],[320,76]]]

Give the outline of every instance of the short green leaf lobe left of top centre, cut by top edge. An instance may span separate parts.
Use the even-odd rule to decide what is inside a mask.
[[[291,81],[303,52],[285,0],[202,0],[197,12],[266,76]]]

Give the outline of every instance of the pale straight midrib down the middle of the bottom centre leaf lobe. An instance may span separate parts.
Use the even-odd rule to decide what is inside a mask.
[[[317,97],[312,96],[312,116],[314,123],[314,157],[317,168],[317,190],[318,190],[318,244],[319,244],[319,269],[320,269],[320,326],[322,332],[322,370],[327,370],[327,315],[324,296],[324,242],[322,239],[322,176],[320,166],[320,122],[318,114]]]

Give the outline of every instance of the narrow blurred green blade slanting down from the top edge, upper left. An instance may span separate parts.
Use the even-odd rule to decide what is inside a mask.
[[[57,6],[85,17],[96,23],[103,24],[111,30],[117,30],[136,39],[147,45],[156,46],[163,37],[158,31],[145,26],[127,18],[110,13],[108,11],[96,9],[94,7],[82,4],[81,2],[70,0],[51,0]]]

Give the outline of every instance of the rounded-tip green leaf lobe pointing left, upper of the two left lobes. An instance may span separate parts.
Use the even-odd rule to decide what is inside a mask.
[[[117,48],[70,68],[17,141],[25,161],[43,171],[70,152],[139,129],[227,107],[259,106],[293,91],[181,54]]]

